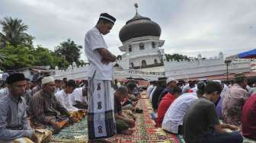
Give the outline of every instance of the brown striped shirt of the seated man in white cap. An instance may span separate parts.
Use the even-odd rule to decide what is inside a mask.
[[[30,100],[30,115],[33,121],[48,124],[51,119],[56,119],[58,116],[69,116],[69,112],[56,100],[54,94],[46,94],[41,90]]]

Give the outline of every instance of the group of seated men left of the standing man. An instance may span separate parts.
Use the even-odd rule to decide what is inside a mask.
[[[30,81],[24,74],[10,74],[0,89],[0,142],[37,142],[37,129],[57,133],[78,122],[73,113],[88,109],[85,86],[85,81],[77,85],[51,76]]]

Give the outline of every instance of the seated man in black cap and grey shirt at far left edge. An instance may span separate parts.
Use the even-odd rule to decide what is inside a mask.
[[[0,142],[20,142],[22,138],[37,141],[27,122],[26,100],[22,97],[27,84],[24,74],[10,75],[7,84],[9,92],[0,99]]]

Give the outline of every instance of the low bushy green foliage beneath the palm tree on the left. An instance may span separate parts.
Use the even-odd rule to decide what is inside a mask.
[[[54,52],[42,46],[37,46],[34,49],[24,45],[15,47],[8,44],[5,48],[0,49],[0,53],[4,56],[0,60],[0,64],[5,70],[16,70],[34,65],[50,65],[51,68],[55,68],[57,65],[60,69],[66,69],[69,66],[69,62],[66,61],[64,56],[57,56]]]

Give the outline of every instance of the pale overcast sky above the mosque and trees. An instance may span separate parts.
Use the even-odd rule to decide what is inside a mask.
[[[134,3],[140,15],[161,27],[165,53],[231,56],[256,48],[255,0],[1,0],[0,18],[20,18],[36,37],[35,45],[54,50],[68,38],[84,47],[86,31],[107,12],[117,22],[104,39],[119,55],[119,31],[135,15]]]

